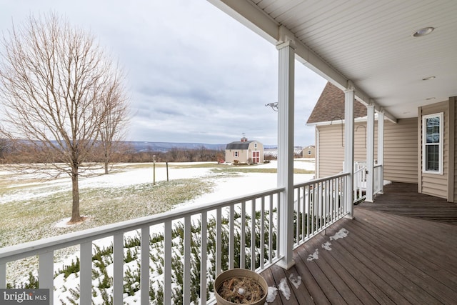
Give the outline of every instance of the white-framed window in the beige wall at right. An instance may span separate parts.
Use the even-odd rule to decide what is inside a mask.
[[[443,174],[443,112],[422,117],[422,171]]]

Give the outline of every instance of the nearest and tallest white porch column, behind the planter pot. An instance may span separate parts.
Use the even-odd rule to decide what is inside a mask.
[[[294,65],[293,41],[278,44],[278,187],[285,188],[279,198],[279,255],[278,264],[289,269],[295,264],[293,250],[293,107],[294,107]]]

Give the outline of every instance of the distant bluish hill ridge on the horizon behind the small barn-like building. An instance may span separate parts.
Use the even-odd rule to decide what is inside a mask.
[[[135,149],[135,151],[161,151],[166,152],[171,149],[206,149],[225,150],[226,144],[205,144],[205,143],[176,143],[176,142],[148,142],[148,141],[126,141],[127,144]],[[264,145],[265,149],[276,148],[276,145]]]

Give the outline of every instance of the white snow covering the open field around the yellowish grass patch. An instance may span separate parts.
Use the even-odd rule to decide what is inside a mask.
[[[201,162],[208,163],[208,162]],[[190,178],[202,178],[211,179],[212,176],[218,175],[212,171],[211,167],[186,167],[189,164],[195,165],[194,163],[173,163],[169,166],[169,179],[190,179]],[[216,163],[215,167],[216,167]],[[129,164],[119,164],[117,167],[122,169],[128,167]],[[183,166],[182,168],[179,166]],[[248,168],[255,169],[276,169],[276,161],[271,161],[268,164],[259,164],[256,166],[248,166]],[[239,166],[239,169],[243,169],[245,166]],[[313,159],[296,159],[294,162],[294,168],[306,169],[309,171],[314,170]],[[0,178],[7,178],[11,175],[10,171],[0,171]],[[134,184],[151,183],[153,181],[153,166],[140,168],[140,169],[129,169],[127,171],[114,171],[109,175],[92,176],[89,178],[81,177],[79,179],[79,189],[88,188],[114,188],[116,186],[130,186]],[[166,166],[165,164],[156,164],[156,181],[166,180]],[[293,176],[294,183],[304,182],[313,179],[313,174],[295,174]],[[0,204],[9,201],[15,201],[17,199],[34,199],[40,196],[49,196],[52,192],[69,191],[71,189],[70,179],[63,177],[61,179],[54,179],[52,181],[35,181],[29,182],[28,179],[33,179],[34,174],[21,174],[16,176],[14,180],[11,180],[10,186],[19,187],[27,186],[21,189],[20,192],[7,192],[0,196]],[[257,191],[271,189],[276,187],[277,178],[276,174],[268,173],[241,173],[238,175],[227,174],[226,179],[214,179],[216,187],[214,191],[209,194],[195,199],[198,203],[206,203],[211,201],[219,201],[221,199],[230,198],[233,196],[233,190],[236,190],[236,196],[242,196],[244,194],[251,194]],[[195,203],[192,201],[191,203]]]

